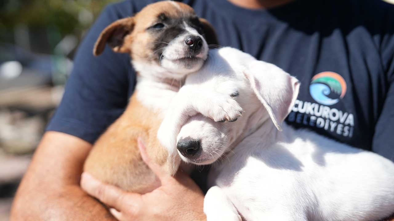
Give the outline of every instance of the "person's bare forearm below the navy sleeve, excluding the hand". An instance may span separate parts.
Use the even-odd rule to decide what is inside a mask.
[[[116,220],[79,186],[91,144],[46,132],[15,196],[11,221]]]

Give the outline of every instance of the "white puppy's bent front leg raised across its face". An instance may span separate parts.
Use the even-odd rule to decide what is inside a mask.
[[[169,156],[174,157],[177,154],[177,135],[190,116],[201,113],[216,122],[233,122],[242,111],[231,94],[217,92],[212,87],[184,85],[171,101],[157,137],[169,151]]]

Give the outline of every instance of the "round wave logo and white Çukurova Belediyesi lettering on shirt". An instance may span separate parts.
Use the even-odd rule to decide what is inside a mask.
[[[352,137],[353,114],[328,107],[338,103],[345,96],[346,89],[346,81],[339,74],[335,72],[316,74],[311,79],[309,92],[317,103],[297,99],[288,116],[288,121]]]

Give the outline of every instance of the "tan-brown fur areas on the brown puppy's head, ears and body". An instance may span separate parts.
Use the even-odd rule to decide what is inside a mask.
[[[157,2],[146,6],[134,17],[113,22],[100,34],[93,54],[102,53],[108,43],[113,51],[129,53],[134,60],[152,61],[149,44],[154,41],[154,36],[146,29],[157,22],[158,15],[165,13],[167,17],[195,16],[190,6],[176,4],[181,10],[170,2]],[[210,39],[214,42],[210,43],[216,44],[212,26],[204,19],[201,19],[201,22],[206,33],[212,35]],[[169,174],[174,175],[177,168],[174,162],[167,159],[167,151],[156,138],[162,122],[159,115],[150,107],[143,106],[134,93],[125,112],[93,146],[85,161],[84,171],[99,180],[131,192],[145,193],[157,187],[155,175],[139,155],[137,138],[140,136],[145,141],[150,157],[162,165]]]

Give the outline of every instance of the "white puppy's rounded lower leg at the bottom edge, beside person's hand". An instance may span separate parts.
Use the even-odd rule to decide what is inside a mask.
[[[207,221],[242,221],[234,204],[219,186],[212,186],[206,193],[204,213]]]

